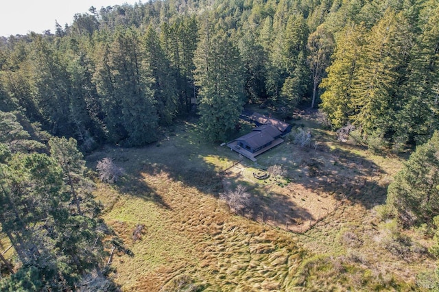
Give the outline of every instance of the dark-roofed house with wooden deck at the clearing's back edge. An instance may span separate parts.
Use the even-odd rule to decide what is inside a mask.
[[[274,125],[260,125],[252,132],[227,143],[227,146],[250,160],[256,161],[255,156],[283,142],[281,135],[282,132]]]

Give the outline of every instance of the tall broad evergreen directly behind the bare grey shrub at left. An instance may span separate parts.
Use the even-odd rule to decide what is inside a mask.
[[[95,74],[105,123],[112,141],[144,145],[156,139],[157,112],[152,77],[143,66],[137,29],[119,32],[112,46],[103,44]]]

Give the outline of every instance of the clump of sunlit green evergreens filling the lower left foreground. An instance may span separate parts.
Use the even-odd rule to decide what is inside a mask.
[[[0,223],[21,261],[0,282],[5,291],[74,290],[102,273],[108,228],[91,196],[85,162],[72,138],[49,141],[46,154],[12,154],[0,143]],[[111,281],[106,287],[114,289]]]

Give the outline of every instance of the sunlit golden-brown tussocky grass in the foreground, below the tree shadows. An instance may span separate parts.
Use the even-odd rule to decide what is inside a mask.
[[[214,197],[168,180],[164,173],[143,176],[163,194],[167,208],[128,195],[105,215],[135,255],[119,255],[113,262],[124,290],[158,291],[181,274],[222,291],[284,285],[300,251],[287,234],[231,216]],[[138,223],[146,231],[134,242],[130,235]]]

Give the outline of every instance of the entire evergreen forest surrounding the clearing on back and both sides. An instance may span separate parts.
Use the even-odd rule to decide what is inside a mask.
[[[0,37],[0,223],[14,250],[0,290],[120,289],[108,254],[132,252],[84,157],[193,119],[200,140],[230,141],[247,106],[284,121],[311,109],[368,153],[403,157],[381,216],[427,230],[436,258],[438,23],[436,0],[156,0]]]

